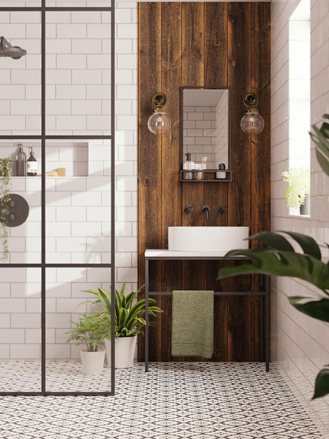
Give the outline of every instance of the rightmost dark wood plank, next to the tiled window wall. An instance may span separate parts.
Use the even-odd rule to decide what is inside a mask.
[[[263,132],[252,136],[252,235],[262,230],[270,230],[270,25],[269,3],[252,3],[252,91],[259,96],[259,111],[265,120]],[[252,241],[252,247],[254,246],[257,246],[256,241]],[[253,291],[258,291],[259,289],[258,276],[252,276],[252,289]],[[258,301],[256,297],[252,300],[252,322],[256,322],[260,318]],[[258,327],[253,324],[252,361],[259,359],[259,342]]]

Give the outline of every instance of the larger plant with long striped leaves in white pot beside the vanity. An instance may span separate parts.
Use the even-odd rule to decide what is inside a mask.
[[[143,287],[136,292],[125,293],[124,283],[118,291],[115,290],[114,302],[114,318],[115,318],[115,367],[116,368],[130,368],[134,363],[134,352],[136,348],[137,335],[143,334],[143,328],[146,325],[144,318],[145,314],[145,299],[138,300],[134,303],[137,294],[141,292]],[[111,297],[103,289],[99,288],[86,289],[84,292],[93,294],[97,299],[88,300],[88,302],[99,305],[100,311],[98,316],[103,321],[104,325],[108,326],[108,333],[105,337],[106,357],[108,359],[108,366],[110,366],[111,359]],[[162,309],[154,306],[156,300],[149,298],[149,315],[156,317],[156,313],[163,312]],[[154,322],[149,322],[149,326],[154,326]]]

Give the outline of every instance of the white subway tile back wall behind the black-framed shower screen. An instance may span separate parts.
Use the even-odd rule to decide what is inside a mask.
[[[118,3],[116,24],[116,286],[127,281],[127,290],[137,287],[136,5]],[[110,121],[110,27],[106,25],[110,15],[52,12],[47,13],[47,22],[48,134],[110,134],[110,126],[104,128]],[[0,13],[0,23],[8,26],[8,33],[3,31],[6,38],[29,49],[21,60],[0,62],[1,134],[39,134],[38,16],[22,19],[18,12]],[[10,143],[7,147],[2,152],[0,148],[0,156],[14,157],[15,148]],[[35,148],[38,156],[40,150]],[[47,143],[47,170],[64,164],[72,172],[69,177],[46,180],[49,263],[110,263],[110,142],[88,141],[87,149],[83,141],[69,147]],[[28,200],[30,212],[23,226],[10,229],[10,262],[38,263],[40,178],[12,178],[12,192]],[[79,350],[65,342],[69,320],[86,309],[77,307],[86,297],[82,289],[109,289],[109,280],[109,269],[104,268],[47,270],[48,358],[77,358]],[[40,274],[32,269],[1,270],[1,358],[40,358],[40,327],[33,326],[39,324],[39,313]]]

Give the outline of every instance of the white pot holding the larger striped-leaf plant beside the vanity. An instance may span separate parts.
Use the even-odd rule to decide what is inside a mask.
[[[120,337],[114,341],[115,350],[115,367],[131,368],[134,364],[134,355],[136,348],[137,335],[134,337]],[[108,359],[108,367],[111,367],[111,342],[105,340],[106,357]]]

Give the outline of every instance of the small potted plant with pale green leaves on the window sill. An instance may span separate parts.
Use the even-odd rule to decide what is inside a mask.
[[[306,168],[291,168],[281,174],[289,186],[284,191],[287,206],[300,209],[300,215],[310,214],[310,171]]]

